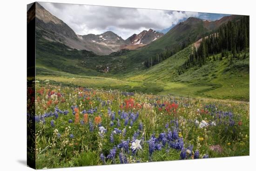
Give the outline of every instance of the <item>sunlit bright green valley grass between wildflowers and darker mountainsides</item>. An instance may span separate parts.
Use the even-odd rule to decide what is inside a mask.
[[[111,73],[104,75],[93,69],[79,66],[79,64],[76,64],[79,63],[79,59],[65,58],[64,60],[65,62],[70,60],[67,65],[80,67],[81,71],[74,69],[78,74],[67,73],[67,70],[63,72],[60,71],[62,69],[56,69],[56,67],[41,66],[40,62],[37,61],[37,78],[94,88],[178,96],[202,96],[215,99],[249,100],[249,54],[247,54],[247,59],[235,60],[232,67],[228,64],[228,58],[224,58],[222,61],[211,60],[201,68],[193,67],[182,75],[178,75],[177,68],[187,59],[191,49],[191,46],[189,46],[149,69],[116,75]],[[60,66],[63,67],[62,64]]]

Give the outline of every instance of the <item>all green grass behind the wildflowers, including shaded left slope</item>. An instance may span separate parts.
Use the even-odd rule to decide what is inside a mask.
[[[36,77],[42,81],[51,79],[67,85],[128,92],[249,101],[249,53],[246,59],[234,59],[232,66],[228,57],[216,61],[209,57],[211,60],[206,65],[192,67],[179,75],[177,69],[188,58],[191,46],[146,69],[142,64],[137,67],[138,63],[128,55],[142,49],[125,51],[122,56],[100,56],[43,39],[38,40],[37,45]],[[243,53],[239,55],[243,57]],[[138,58],[139,61],[142,57]],[[101,69],[106,66],[110,72],[105,74]]]

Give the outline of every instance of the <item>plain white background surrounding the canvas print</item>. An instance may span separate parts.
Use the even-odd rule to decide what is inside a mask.
[[[0,4],[0,170],[30,171],[26,166],[27,4],[32,0],[3,0]],[[255,20],[253,0],[50,0],[49,2],[141,7],[250,15],[250,156],[118,164],[52,169],[52,171],[252,170],[256,161]],[[75,13],[75,12],[74,12]],[[255,169],[255,168],[254,168]]]

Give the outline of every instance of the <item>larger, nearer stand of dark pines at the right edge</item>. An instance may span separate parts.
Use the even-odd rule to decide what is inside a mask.
[[[243,16],[239,21],[228,21],[222,24],[214,34],[202,38],[198,49],[193,49],[193,53],[179,67],[178,73],[182,74],[193,66],[201,67],[208,61],[210,55],[221,53],[220,60],[229,52],[232,53],[229,64],[232,65],[233,58],[237,53],[247,51],[249,48],[249,16]],[[215,57],[214,57],[215,60]]]

